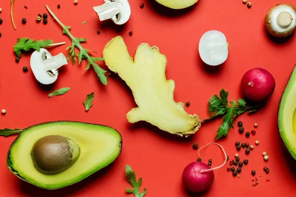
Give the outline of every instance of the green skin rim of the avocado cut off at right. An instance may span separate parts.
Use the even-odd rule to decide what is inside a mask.
[[[290,74],[290,77],[288,79],[288,82],[285,86],[285,89],[282,93],[282,96],[281,96],[281,99],[280,99],[280,102],[279,102],[279,106],[278,106],[278,121],[277,121],[277,126],[278,126],[278,129],[279,129],[279,132],[280,132],[280,136],[282,138],[282,144],[285,148],[285,150],[289,153],[289,155],[294,159],[296,160],[296,153],[294,153],[289,147],[288,147],[288,140],[287,140],[287,137],[285,135],[285,131],[282,129],[282,120],[281,120],[281,117],[280,117],[280,109],[281,107],[284,107],[282,106],[283,105],[283,97],[286,95],[286,94],[289,94],[289,92],[286,92],[287,91],[287,88],[288,88],[288,85],[290,84],[291,80],[293,80],[294,78],[293,77],[296,77],[296,64],[294,65],[294,68]],[[295,83],[296,83],[296,80],[295,80]]]

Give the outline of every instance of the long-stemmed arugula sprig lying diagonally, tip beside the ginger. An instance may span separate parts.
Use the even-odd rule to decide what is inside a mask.
[[[105,76],[106,70],[102,69],[99,65],[95,63],[95,61],[103,61],[104,58],[101,57],[91,57],[88,52],[89,50],[84,49],[81,46],[81,42],[86,41],[85,38],[76,38],[70,33],[70,28],[69,26],[65,26],[57,17],[56,15],[49,9],[47,5],[45,5],[46,9],[48,12],[52,15],[52,17],[55,19],[56,22],[63,28],[63,34],[67,34],[71,40],[72,44],[71,46],[67,47],[67,50],[69,50],[67,60],[69,61],[70,56],[72,57],[72,64],[75,63],[76,60],[76,55],[78,56],[78,65],[80,65],[82,59],[86,59],[88,61],[87,67],[85,70],[88,70],[90,66],[93,66],[95,72],[97,73],[97,76],[99,77],[100,81],[104,84],[107,85],[107,77]],[[74,49],[77,47],[79,49],[79,53],[75,53]]]

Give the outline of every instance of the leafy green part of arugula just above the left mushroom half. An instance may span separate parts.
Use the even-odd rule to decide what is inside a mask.
[[[53,40],[34,40],[29,39],[27,37],[24,38],[17,38],[17,43],[13,47],[13,51],[15,54],[20,58],[21,57],[21,50],[29,51],[31,49],[35,49],[40,51],[40,48],[48,46],[51,44]]]

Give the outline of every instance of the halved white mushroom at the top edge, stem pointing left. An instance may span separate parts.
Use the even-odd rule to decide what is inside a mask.
[[[125,24],[131,16],[128,0],[104,0],[105,3],[93,7],[100,21],[111,19],[116,25]]]

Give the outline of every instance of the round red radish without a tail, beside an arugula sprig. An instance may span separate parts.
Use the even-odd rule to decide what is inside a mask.
[[[241,84],[244,96],[255,102],[267,100],[275,88],[273,76],[263,68],[248,70],[244,74]]]

